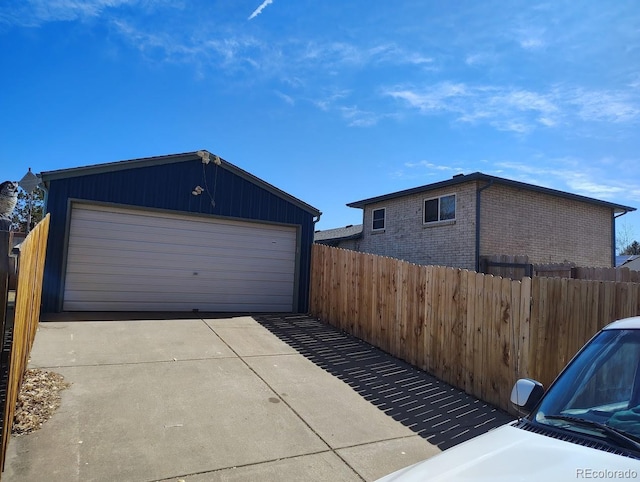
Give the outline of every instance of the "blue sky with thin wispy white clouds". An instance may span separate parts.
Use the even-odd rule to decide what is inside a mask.
[[[475,171],[640,208],[635,0],[260,1],[3,0],[3,177],[207,149],[319,229]]]

